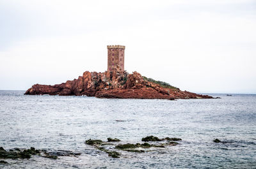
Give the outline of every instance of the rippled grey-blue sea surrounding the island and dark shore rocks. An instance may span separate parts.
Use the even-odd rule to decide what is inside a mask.
[[[80,152],[59,159],[4,159],[0,168],[256,168],[256,95],[209,94],[221,99],[98,99],[26,96],[0,91],[0,147]],[[142,143],[182,138],[179,145],[111,158],[89,138]],[[225,143],[214,143],[215,138]],[[0,159],[1,160],[1,159]]]

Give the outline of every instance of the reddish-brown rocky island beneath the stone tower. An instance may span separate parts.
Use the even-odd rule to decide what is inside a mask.
[[[83,77],[68,80],[62,84],[35,84],[25,94],[50,94],[60,96],[95,96],[97,98],[136,98],[136,99],[189,99],[212,98],[211,96],[180,91],[170,84],[142,77],[115,68],[104,73],[85,71]]]

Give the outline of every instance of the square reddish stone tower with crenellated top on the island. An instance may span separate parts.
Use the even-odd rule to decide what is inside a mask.
[[[108,71],[119,66],[124,71],[124,50],[122,45],[108,45]]]

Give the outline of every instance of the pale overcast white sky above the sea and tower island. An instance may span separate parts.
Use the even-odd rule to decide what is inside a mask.
[[[0,90],[125,70],[182,91],[256,94],[255,0],[0,0]]]

